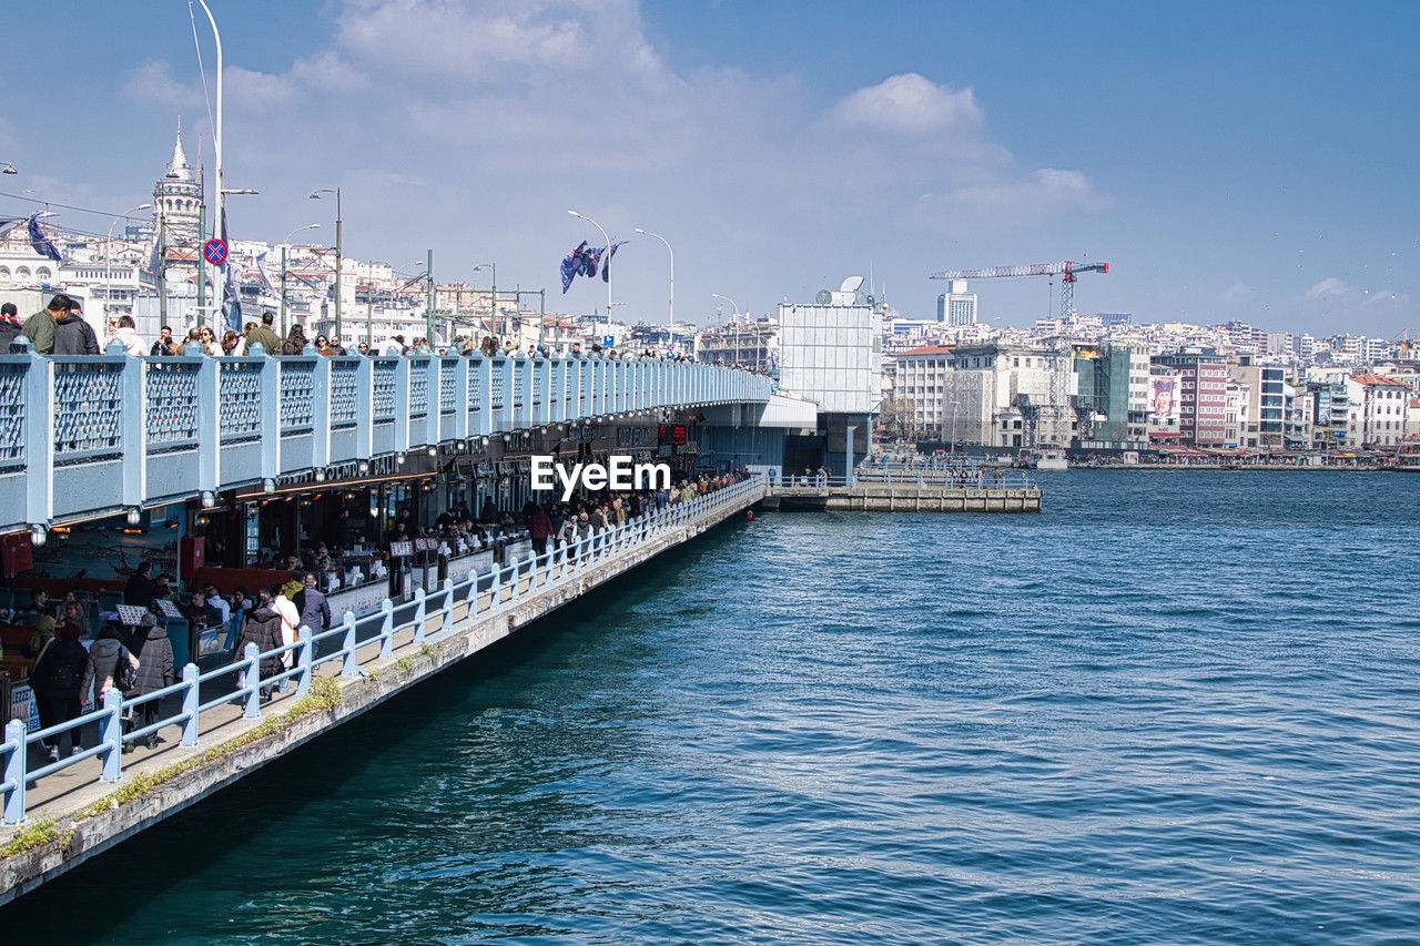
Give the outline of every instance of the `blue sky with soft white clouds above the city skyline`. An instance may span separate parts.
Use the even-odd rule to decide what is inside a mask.
[[[193,4],[196,7],[196,4]],[[209,0],[230,233],[606,311],[561,259],[598,232],[621,321],[709,324],[848,276],[934,317],[947,268],[1109,261],[1082,314],[1420,334],[1420,4]],[[0,216],[102,233],[179,116],[210,176],[216,54],[186,0],[6,0]],[[55,53],[60,44],[62,53]],[[17,51],[23,51],[18,53]],[[9,195],[9,196],[4,196]],[[109,216],[104,216],[109,214]],[[410,270],[412,271],[412,270]],[[978,280],[983,321],[1058,311]],[[998,321],[997,321],[998,320]]]

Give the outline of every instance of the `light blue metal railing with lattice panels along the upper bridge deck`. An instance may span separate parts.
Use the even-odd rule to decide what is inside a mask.
[[[0,355],[0,531],[554,422],[763,403],[770,386],[599,355]]]

